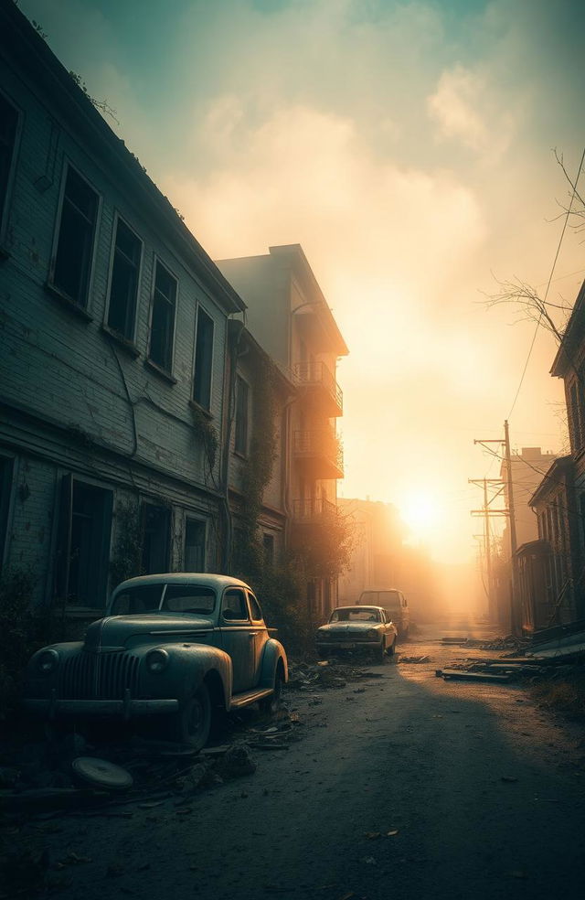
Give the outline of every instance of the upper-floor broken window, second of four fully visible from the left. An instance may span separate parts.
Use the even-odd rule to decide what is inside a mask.
[[[116,223],[108,325],[122,338],[133,340],[136,296],[143,244],[122,219]]]

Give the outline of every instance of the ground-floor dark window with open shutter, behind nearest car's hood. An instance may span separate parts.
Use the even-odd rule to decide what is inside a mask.
[[[64,476],[57,594],[66,604],[101,608],[108,589],[112,491]]]

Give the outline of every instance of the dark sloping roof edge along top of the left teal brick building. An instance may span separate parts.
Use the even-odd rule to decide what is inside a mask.
[[[188,230],[170,200],[148,177],[122,139],[114,134],[88,94],[71,77],[12,0],[0,2],[0,48],[6,60],[16,63],[18,74],[24,72],[34,80],[35,87],[45,93],[47,102],[58,110],[76,134],[88,142],[122,181],[123,187],[138,198],[144,215],[154,220],[155,229],[165,233],[167,241],[181,253],[187,268],[213,291],[218,304],[228,314],[242,312],[246,308],[245,303]]]

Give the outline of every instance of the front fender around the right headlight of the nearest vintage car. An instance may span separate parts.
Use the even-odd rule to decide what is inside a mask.
[[[149,672],[145,659],[152,650],[165,650],[169,656],[167,668],[160,673]],[[141,684],[156,696],[175,697],[180,703],[193,696],[203,681],[208,682],[214,705],[229,710],[232,691],[231,658],[225,650],[207,644],[161,643],[133,648],[141,659]]]

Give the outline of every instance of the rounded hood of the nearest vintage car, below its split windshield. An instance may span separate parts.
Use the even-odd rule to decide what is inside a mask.
[[[205,616],[161,616],[158,613],[144,616],[106,616],[92,622],[87,630],[85,647],[99,650],[106,647],[124,647],[132,638],[152,635],[158,643],[191,639],[198,632],[209,632],[213,622]]]

